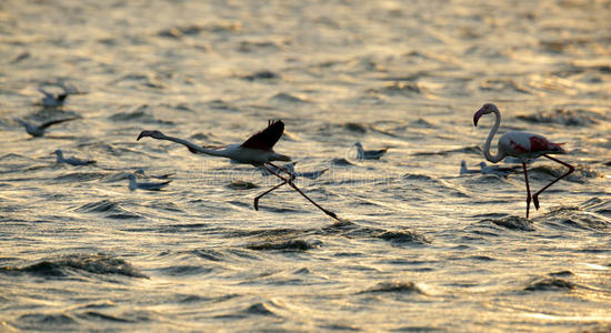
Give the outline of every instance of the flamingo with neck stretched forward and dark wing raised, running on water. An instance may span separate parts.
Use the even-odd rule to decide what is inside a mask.
[[[284,132],[284,123],[281,120],[278,121],[269,121],[268,127],[258,132],[257,134],[250,137],[247,141],[244,141],[241,144],[230,144],[227,147],[221,148],[206,148],[200,147],[194,143],[191,143],[187,140],[178,139],[168,137],[160,131],[142,131],[140,135],[138,135],[137,141],[144,137],[150,137],[158,140],[168,140],[172,142],[180,143],[189,149],[192,153],[204,153],[212,157],[221,157],[221,158],[228,158],[230,160],[233,160],[238,163],[244,163],[244,164],[252,164],[257,168],[264,168],[267,169],[271,174],[278,176],[282,180],[281,183],[277,184],[276,186],[269,189],[268,191],[257,195],[254,198],[254,210],[259,210],[259,200],[270,193],[271,191],[282,186],[283,184],[289,184],[291,188],[293,188],[299,194],[303,195],[308,201],[310,201],[314,206],[320,209],[322,212],[324,212],[327,215],[338,220],[338,215],[331,211],[328,211],[323,209],[321,205],[315,203],[313,200],[311,200],[308,195],[306,195],[294,183],[293,180],[296,179],[296,175],[291,173],[289,170],[286,170],[283,168],[279,168],[272,163],[272,161],[284,161],[290,162],[291,158],[279,154],[273,151],[273,145],[278,140],[280,140],[280,137],[282,137],[282,133]],[[270,168],[272,167],[272,168]],[[282,170],[282,172],[287,173],[289,178],[280,175],[280,172],[278,170]]]

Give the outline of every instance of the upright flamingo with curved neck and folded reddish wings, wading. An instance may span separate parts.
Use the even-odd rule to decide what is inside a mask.
[[[550,154],[565,154],[567,151],[561,147],[564,143],[553,143],[548,139],[543,138],[542,135],[527,133],[527,132],[513,131],[513,132],[503,134],[501,139],[499,139],[497,154],[491,155],[490,143],[492,142],[492,138],[497,133],[497,130],[499,130],[499,124],[501,123],[501,112],[499,112],[499,109],[497,108],[497,105],[492,103],[483,104],[483,107],[481,107],[481,109],[478,110],[475,114],[473,114],[473,124],[477,127],[478,120],[483,114],[488,114],[488,113],[494,113],[497,115],[497,120],[494,121],[494,125],[492,127],[492,130],[490,130],[490,134],[488,135],[488,139],[485,139],[485,143],[483,144],[483,154],[485,155],[485,159],[492,163],[497,163],[502,159],[504,159],[505,157],[514,157],[520,160],[520,162],[522,163],[522,168],[524,169],[524,180],[527,183],[527,220],[528,220],[531,195],[530,195],[530,186],[529,186],[529,175],[527,172],[527,162],[529,160],[534,160],[539,157],[545,157],[557,163],[560,163],[569,168],[569,171],[567,171],[567,173],[554,179],[552,182],[550,182],[549,184],[543,186],[543,189],[539,190],[537,193],[532,195],[532,202],[537,210],[539,210],[539,194],[541,194],[543,191],[545,191],[549,186],[553,185],[559,180],[571,174],[571,172],[573,172],[575,168],[569,163],[562,162],[560,160],[557,160],[550,157]]]

